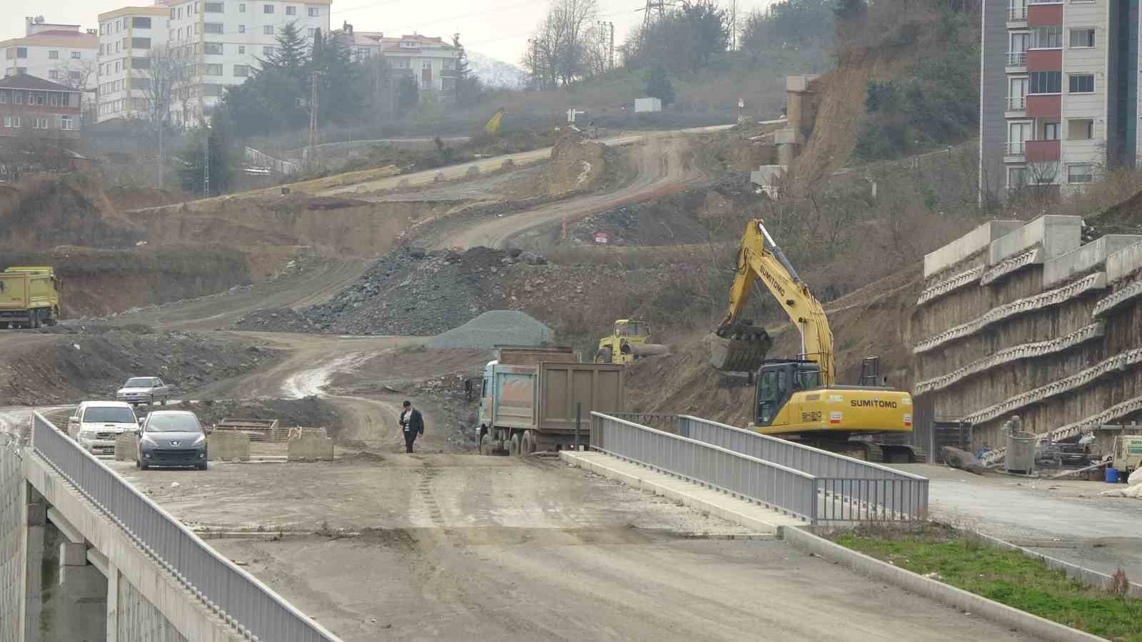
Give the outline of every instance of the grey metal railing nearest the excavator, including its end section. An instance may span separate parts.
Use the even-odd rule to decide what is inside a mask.
[[[822,520],[914,520],[927,512],[928,480],[920,475],[689,415],[677,422],[682,436],[817,478]]]

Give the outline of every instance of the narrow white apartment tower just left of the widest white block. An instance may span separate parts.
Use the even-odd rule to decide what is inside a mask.
[[[152,53],[167,45],[166,7],[123,7],[99,14],[96,121],[150,118]]]

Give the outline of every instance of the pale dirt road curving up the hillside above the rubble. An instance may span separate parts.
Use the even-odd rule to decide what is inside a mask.
[[[435,247],[472,248],[486,246],[501,248],[509,242],[524,242],[523,238],[537,227],[557,223],[563,218],[578,220],[622,204],[644,201],[682,191],[706,179],[706,175],[687,157],[687,142],[683,136],[651,136],[632,152],[635,178],[629,184],[600,194],[552,203],[529,211],[491,218],[466,230],[448,234]]]

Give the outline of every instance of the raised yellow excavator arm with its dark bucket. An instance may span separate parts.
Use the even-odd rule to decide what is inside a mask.
[[[833,330],[825,310],[797,276],[785,252],[773,241],[759,218],[746,225],[738,251],[738,270],[730,289],[730,306],[715,330],[710,362],[718,370],[755,371],[773,342],[764,328],[740,319],[754,283],[761,281],[801,332],[799,359],[814,361],[821,369],[821,385],[835,382]]]

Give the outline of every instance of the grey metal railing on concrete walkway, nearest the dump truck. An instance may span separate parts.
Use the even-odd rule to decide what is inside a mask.
[[[818,523],[818,480],[693,439],[592,412],[592,449]]]

